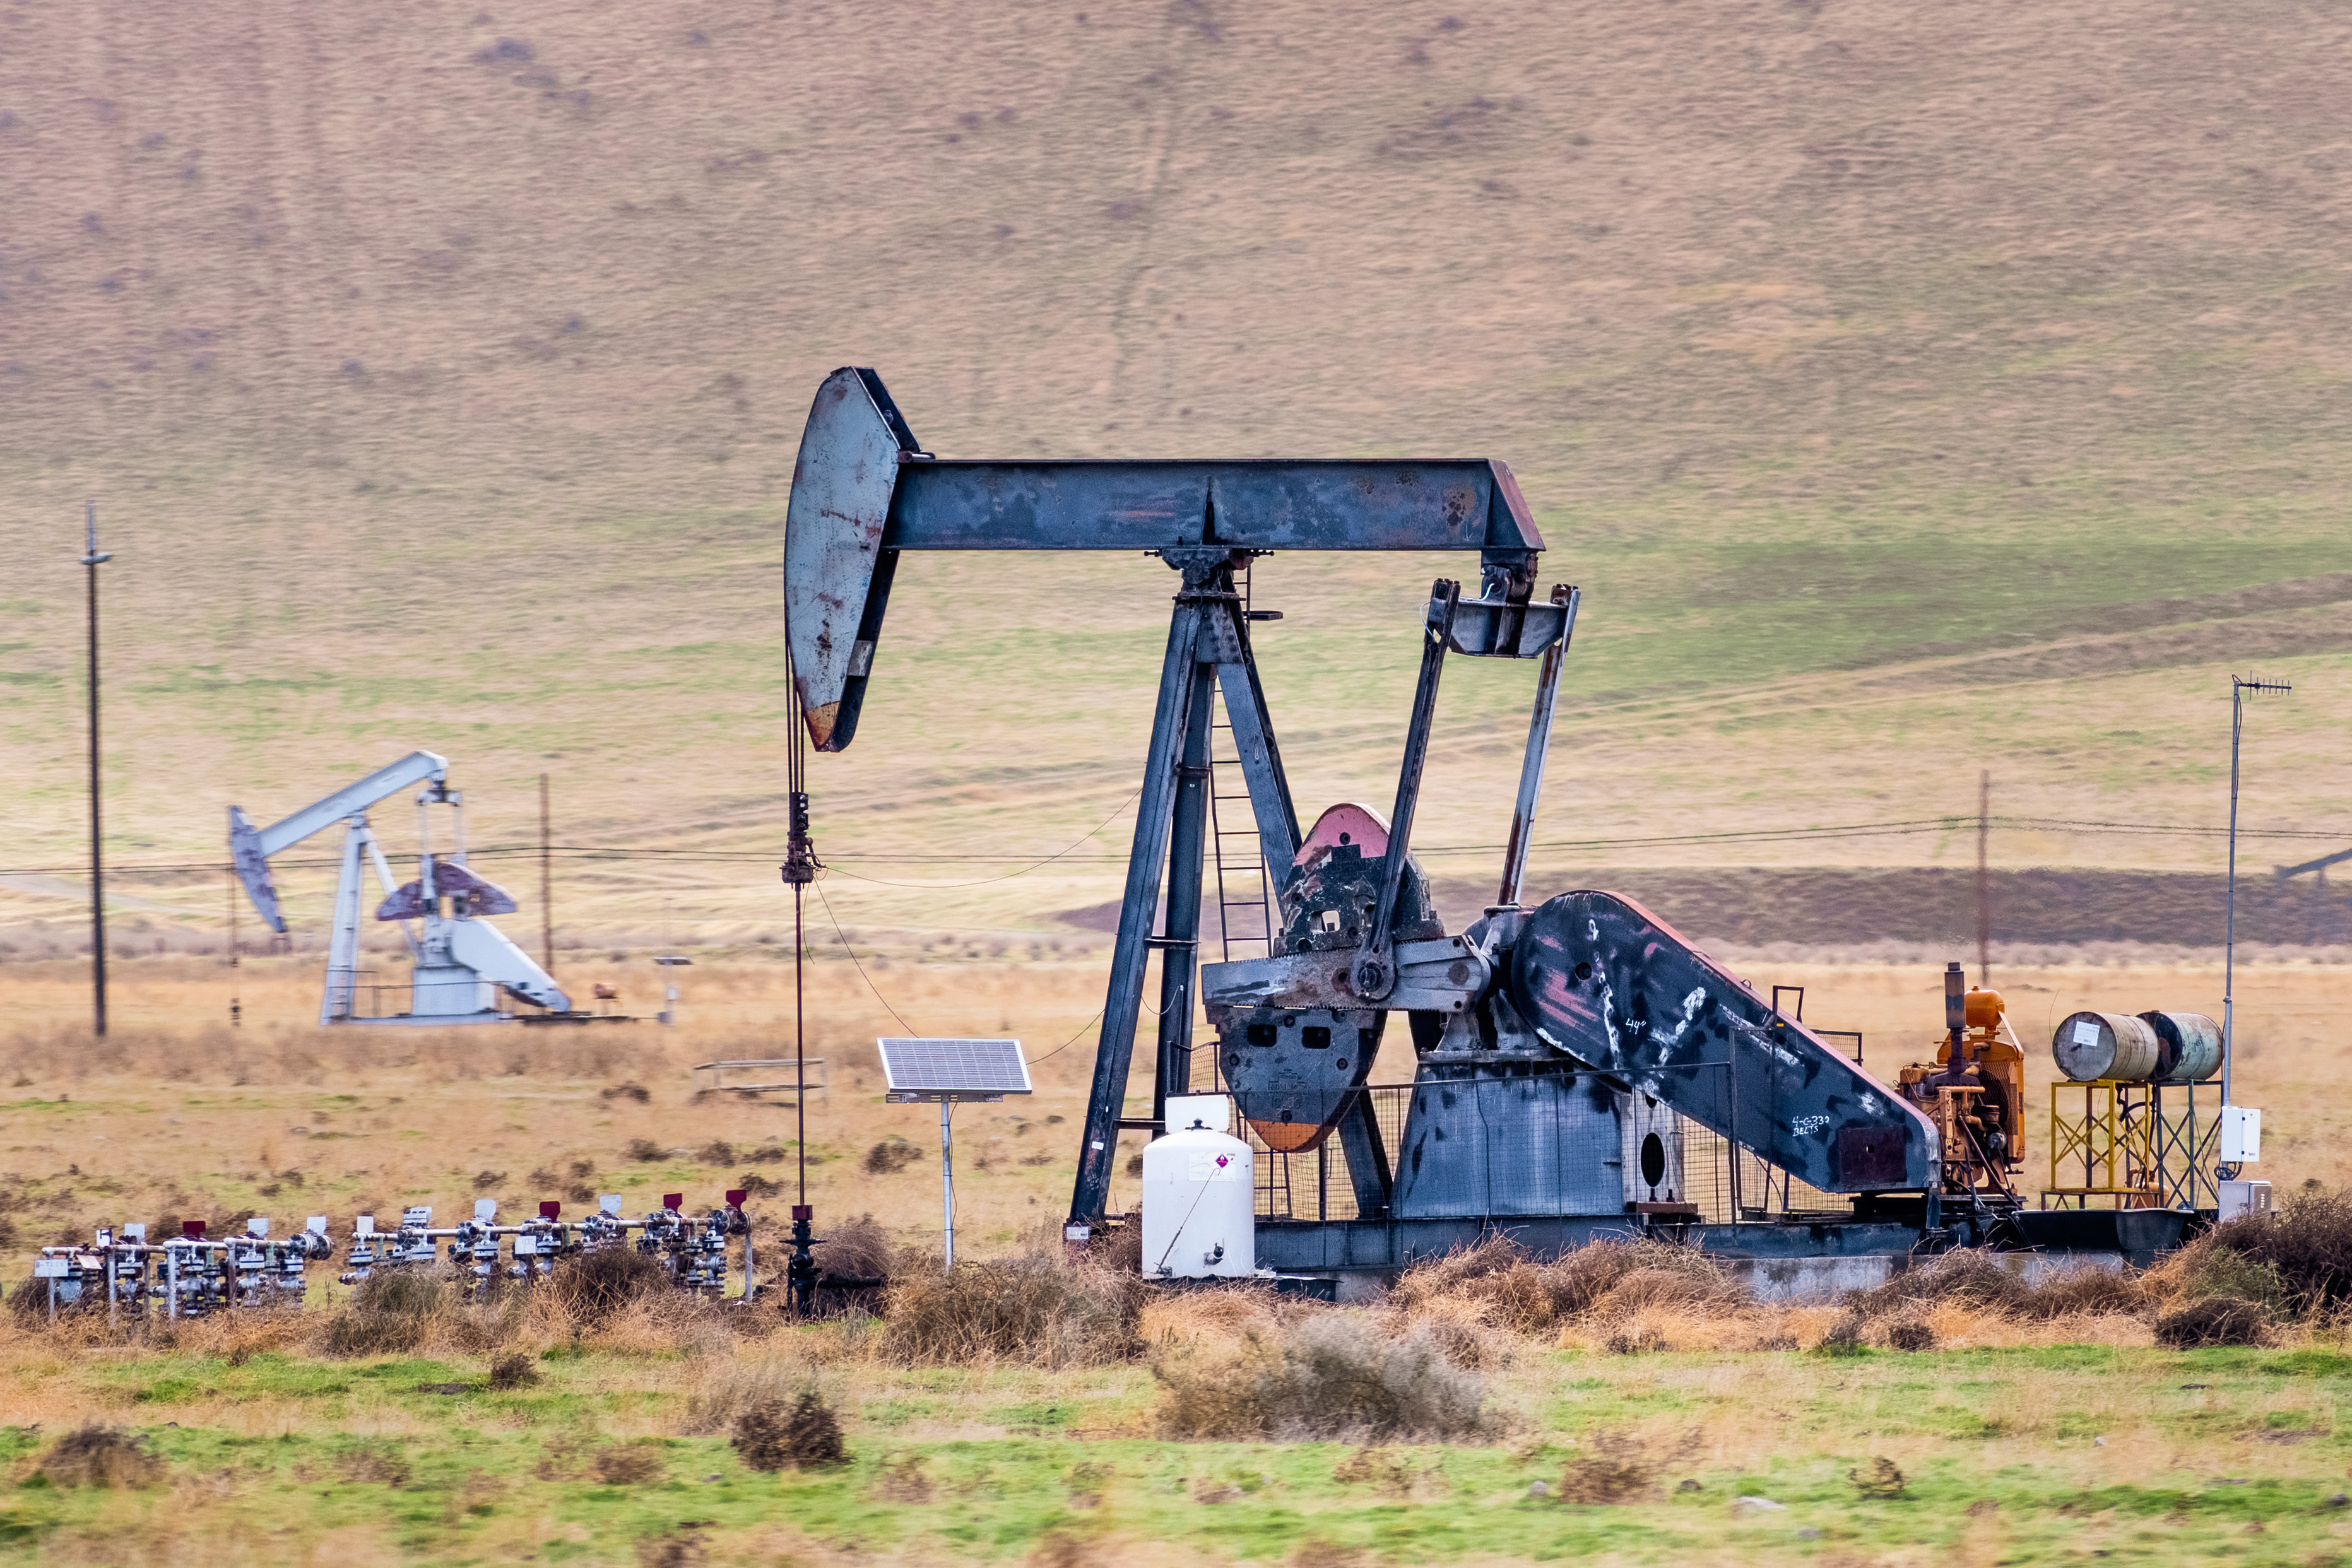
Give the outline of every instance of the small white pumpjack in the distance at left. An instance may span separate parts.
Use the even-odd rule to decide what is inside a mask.
[[[393,886],[393,867],[383,858],[369,806],[409,785],[416,792],[416,877]],[[449,806],[454,846],[447,858],[433,853],[428,806]],[[515,1016],[496,1006],[499,992],[517,997],[548,1013],[569,1013],[562,987],[503,931],[489,914],[513,914],[513,896],[466,867],[466,797],[449,788],[449,759],[435,752],[409,752],[367,778],[343,785],[301,811],[254,827],[245,811],[228,809],[228,853],[247,898],[270,931],[285,931],[285,910],[270,858],[303,839],[343,823],[343,863],[334,884],[334,936],[327,940],[327,992],[318,1006],[320,1025],[334,1023],[508,1023]],[[381,1011],[372,1006],[383,987],[365,985],[360,971],[360,903],[365,896],[362,860],[374,867],[383,889],[376,919],[397,922],[414,964],[409,1006]],[[409,922],[419,929],[412,931]]]

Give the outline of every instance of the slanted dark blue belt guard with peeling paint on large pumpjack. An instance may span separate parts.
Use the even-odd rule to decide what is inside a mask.
[[[1642,905],[1562,893],[1526,917],[1510,997],[1557,1051],[1820,1192],[1922,1190],[1933,1124]]]

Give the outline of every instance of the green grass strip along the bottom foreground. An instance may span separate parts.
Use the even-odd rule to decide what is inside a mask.
[[[1675,1354],[1590,1361],[1538,1356],[1505,1385],[1541,1418],[1491,1446],[1397,1448],[1350,1465],[1345,1443],[1164,1443],[1134,1436],[1143,1371],[1051,1378],[1021,1371],[837,1371],[880,1399],[851,1401],[854,1462],[755,1474],[724,1436],[670,1436],[684,1371],[675,1359],[564,1354],[543,1382],[485,1392],[480,1368],[447,1359],[318,1363],[254,1354],[238,1366],[160,1354],[94,1361],[78,1382],[143,1432],[181,1476],[202,1476],[202,1514],[174,1493],[49,1486],[35,1455],[56,1429],[0,1432],[0,1559],[87,1554],[148,1533],[205,1540],[278,1528],[358,1530],[407,1556],[503,1561],[515,1540],[546,1561],[630,1563],[642,1542],[689,1533],[717,1561],[771,1542],[776,1521],[816,1554],[1014,1561],[1051,1537],[1162,1542],[1207,1561],[1275,1563],[1308,1540],[1369,1561],[1813,1561],[1837,1552],[1962,1552],[1997,1530],[2002,1561],[2333,1561],[2345,1446],[2281,1389],[2352,1399],[2352,1356],[2326,1349],[2119,1352],[1973,1349],[1823,1361],[1797,1354]],[[1757,1373],[1757,1378],[1750,1378]],[[1818,1373],[1818,1375],[1804,1375]],[[1792,1382],[1792,1375],[1799,1375]],[[421,1392],[423,1385],[470,1392]],[[2065,1408],[1999,1418],[2051,1385],[2126,1385],[2119,1420]],[[2192,1385],[2183,1389],[2180,1385]],[[1806,1389],[1773,1403],[1773,1389]],[[929,1396],[924,1394],[929,1389]],[[997,1399],[990,1399],[997,1394]],[[1002,1394],[1021,1394],[1004,1401]],[[273,1408],[238,1429],[167,1413]],[[285,1401],[285,1403],[273,1403]],[[978,1403],[974,1403],[978,1401]],[[1783,1420],[1785,1418],[1785,1420]],[[1769,1450],[1745,1432],[1776,1425]],[[2131,1427],[2124,1432],[2124,1427]],[[405,1436],[353,1436],[350,1429]],[[1639,1432],[1646,1493],[1625,1505],[1557,1500],[1562,1472],[1611,1434]],[[1698,1441],[1677,1439],[1698,1434]],[[2093,1439],[2185,1462],[2100,1467]],[[659,1455],[640,1483],[602,1483],[604,1443]],[[1849,1479],[1898,1453],[1900,1495]],[[1534,1490],[1543,1481],[1555,1495]],[[1778,1509],[1738,1507],[1764,1497]],[[2260,1530],[2256,1533],[2256,1526]]]

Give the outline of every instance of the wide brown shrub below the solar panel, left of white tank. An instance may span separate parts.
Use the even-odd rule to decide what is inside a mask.
[[[1103,1366],[1143,1349],[1143,1281],[1051,1258],[917,1267],[891,1281],[882,1319],[882,1354],[908,1366]]]

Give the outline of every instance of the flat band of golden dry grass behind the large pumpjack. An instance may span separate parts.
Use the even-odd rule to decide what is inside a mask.
[[[868,957],[868,964],[873,959]],[[1757,987],[1804,985],[1806,1018],[1860,1030],[1865,1063],[1893,1074],[1917,1060],[1940,1020],[1936,964],[1832,966],[1743,959]],[[87,978],[71,964],[9,969],[21,1023],[0,1044],[7,1133],[0,1159],[14,1182],[9,1220],[16,1260],[42,1241],[92,1225],[273,1213],[296,1222],[329,1213],[348,1232],[353,1213],[435,1204],[463,1213],[496,1197],[508,1213],[579,1187],[623,1192],[630,1213],[647,1194],[684,1187],[715,1201],[741,1175],[790,1178],[793,1164],[750,1164],[762,1145],[790,1145],[793,1112],[779,1105],[696,1100],[694,1063],[790,1053],[790,961],[701,959],[680,971],[680,1027],[652,1023],[487,1030],[318,1030],[313,959],[247,961],[245,1025],[228,1027],[228,971],[202,959],[141,959],[118,969],[115,1027],[92,1046]],[[579,961],[567,983],[614,983],[621,1006],[659,1006],[659,971],[637,961]],[[1018,1251],[1058,1225],[1070,1199],[1077,1119],[1094,1070],[1101,957],[1030,954],[1007,947],[884,957],[870,971],[906,1027],[927,1034],[1011,1034],[1035,1058],[1037,1095],[971,1107],[957,1121],[964,1244]],[[863,1154],[901,1135],[936,1150],[938,1114],[884,1105],[873,1037],[898,1030],[858,971],[826,954],[809,964],[809,1053],[826,1058],[833,1093],[809,1105],[809,1192],[818,1215],[873,1213],[898,1239],[936,1244],[938,1168],[924,1159],[873,1175]],[[2077,1009],[2220,1011],[2218,966],[2049,966],[1994,976],[2030,1046],[2027,1180],[2049,1173],[2046,1084],[2051,1025]],[[2265,1110],[2263,1175],[2279,1190],[2305,1180],[2352,1180],[2352,1105],[2338,1088],[2340,1018],[2352,978],[2333,964],[2258,964],[2239,971],[2237,1093]],[[1131,1095],[1148,1100],[1148,1030]],[[1204,1025],[1197,1025],[1204,1030]],[[1411,1079],[1411,1051],[1388,1041],[1374,1081]],[[647,1091],[612,1093],[621,1084]],[[294,1131],[303,1128],[303,1131]],[[1131,1135],[1134,1138],[1134,1135]],[[628,1159],[633,1145],[661,1159]],[[724,1157],[713,1147],[722,1145]],[[567,1175],[588,1161],[593,1178]],[[80,1166],[68,1171],[68,1166]],[[296,1171],[299,1180],[287,1178]],[[560,1180],[534,1182],[532,1173]],[[489,1175],[492,1180],[477,1180]],[[607,1185],[600,1185],[607,1182]],[[1134,1187],[1122,1175],[1112,1208]],[[266,1192],[275,1190],[275,1192]],[[769,1197],[781,1213],[790,1199]],[[16,1269],[21,1272],[21,1269]]]

